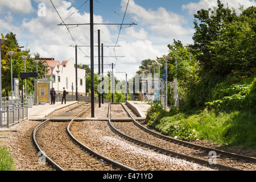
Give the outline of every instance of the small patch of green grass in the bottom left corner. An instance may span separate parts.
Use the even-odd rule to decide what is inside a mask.
[[[14,171],[14,161],[11,158],[10,150],[4,145],[0,145],[0,171]]]

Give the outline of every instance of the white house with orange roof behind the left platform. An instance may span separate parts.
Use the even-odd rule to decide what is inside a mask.
[[[44,59],[42,59],[44,60]],[[76,94],[76,68],[75,68],[75,60],[68,59],[68,61],[59,61],[55,60],[46,60],[48,66],[47,69],[49,71],[46,73],[46,78],[51,78],[53,76],[53,83],[51,84],[51,88],[55,88],[56,94],[57,91],[59,93],[63,93],[63,87],[68,92],[68,94],[72,94],[72,85],[73,85],[73,94]],[[54,68],[51,70],[51,66]],[[53,71],[53,72],[52,72]],[[57,73],[57,71],[60,71]],[[52,74],[53,73],[53,74]],[[58,89],[59,83],[59,89]],[[77,92],[80,96],[85,96],[85,69],[77,68]]]

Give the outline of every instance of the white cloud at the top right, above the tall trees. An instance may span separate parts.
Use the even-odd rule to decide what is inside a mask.
[[[232,7],[234,9],[237,10],[237,13],[240,12],[239,7],[240,5],[243,5],[244,8],[246,9],[247,7],[250,6],[256,6],[256,2],[254,0],[222,0],[221,3],[224,4],[224,7],[229,7],[230,9],[232,9]],[[200,2],[195,3],[195,2],[191,2],[187,5],[183,5],[182,9],[183,10],[188,10],[189,14],[196,14],[196,12],[198,10],[201,9],[205,9],[208,10],[209,8],[212,7],[212,5],[216,5],[217,6],[217,1],[216,0],[200,0]]]

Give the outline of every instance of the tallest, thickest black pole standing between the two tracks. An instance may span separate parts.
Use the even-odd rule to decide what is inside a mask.
[[[90,102],[91,117],[94,118],[94,53],[93,53],[93,0],[90,0]]]

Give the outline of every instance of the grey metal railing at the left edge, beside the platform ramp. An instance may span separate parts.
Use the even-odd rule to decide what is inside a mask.
[[[2,114],[2,118],[0,117],[0,127],[10,127],[28,119],[27,100],[24,100],[24,103],[22,103],[21,100],[10,101],[3,98],[0,114]]]

